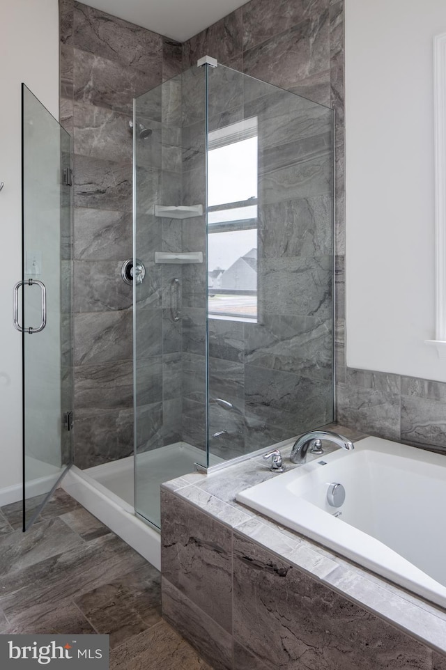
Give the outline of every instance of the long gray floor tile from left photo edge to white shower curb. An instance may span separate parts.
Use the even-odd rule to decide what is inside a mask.
[[[1,575],[0,607],[7,617],[26,608],[31,616],[34,607],[50,605],[74,594],[81,595],[141,568],[145,563],[145,559],[123,540],[109,533],[89,543],[82,542],[64,554],[17,570],[14,579]]]

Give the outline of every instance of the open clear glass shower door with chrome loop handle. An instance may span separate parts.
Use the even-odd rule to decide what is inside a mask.
[[[24,529],[72,460],[71,169],[69,134],[22,87]],[[30,280],[32,283],[30,284]]]

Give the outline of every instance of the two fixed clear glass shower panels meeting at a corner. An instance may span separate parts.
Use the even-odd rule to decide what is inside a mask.
[[[135,510],[154,526],[162,481],[333,420],[332,110],[201,61],[134,101]]]

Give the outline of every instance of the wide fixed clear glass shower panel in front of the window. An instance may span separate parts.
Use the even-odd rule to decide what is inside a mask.
[[[208,109],[208,446],[226,460],[333,418],[332,111],[222,65]]]

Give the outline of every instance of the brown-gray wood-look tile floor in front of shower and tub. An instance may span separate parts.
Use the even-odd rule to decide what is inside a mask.
[[[110,670],[212,670],[161,618],[160,572],[61,489],[26,533],[21,503],[0,508],[2,633],[107,633]]]

